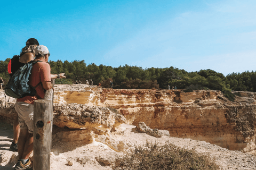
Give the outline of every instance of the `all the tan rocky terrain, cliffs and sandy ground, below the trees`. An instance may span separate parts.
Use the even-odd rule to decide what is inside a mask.
[[[65,88],[69,90],[63,90]],[[220,91],[183,93],[170,90],[100,90],[94,86],[80,87],[74,84],[55,88],[51,170],[111,169],[115,160],[121,158],[125,151],[132,150],[134,144],[146,141],[159,144],[170,141],[176,146],[209,154],[221,169],[256,169],[256,153],[253,148],[255,129],[250,129],[255,124],[256,94],[239,92],[241,97],[236,96],[236,101],[232,103]],[[14,101],[5,97],[0,90],[0,169],[3,170],[13,169],[18,160],[18,153],[9,151],[13,138],[10,122],[13,122],[15,116]],[[126,121],[123,116],[115,113],[117,110],[126,116]],[[169,113],[176,115],[176,118],[166,117]],[[139,122],[165,130],[169,130],[170,125],[177,125],[171,127],[173,131],[170,129],[169,132],[179,138],[169,137],[166,133],[160,137],[158,131],[150,128],[139,133],[143,130],[134,126]],[[162,127],[157,126],[159,122]],[[234,122],[238,122],[239,126],[234,126]],[[113,127],[116,127],[115,130]],[[211,127],[219,129],[217,131]],[[199,133],[199,130],[204,133]],[[178,131],[179,134],[174,134]],[[209,132],[214,135],[206,136]],[[215,135],[215,132],[218,133]],[[225,139],[228,145],[239,144],[241,149],[245,147],[245,142],[237,137],[241,137],[242,132],[253,132],[247,143],[253,143],[249,149],[254,151],[243,153],[189,139],[194,133],[199,133],[199,137],[206,137],[211,143],[220,141],[221,144]]]

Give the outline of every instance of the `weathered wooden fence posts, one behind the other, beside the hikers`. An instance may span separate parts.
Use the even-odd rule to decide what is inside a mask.
[[[52,80],[54,86],[54,79]],[[34,170],[50,170],[52,141],[53,89],[46,90],[44,100],[34,101]]]

